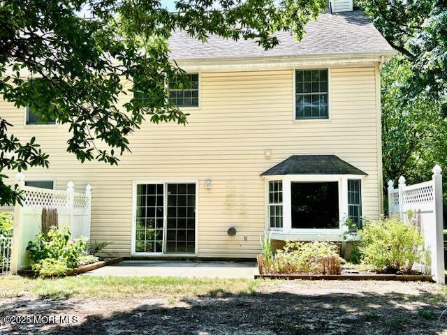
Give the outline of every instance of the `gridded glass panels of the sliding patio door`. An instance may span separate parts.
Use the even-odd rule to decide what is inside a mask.
[[[137,184],[136,253],[194,253],[196,184]]]

